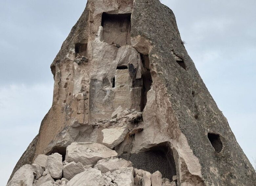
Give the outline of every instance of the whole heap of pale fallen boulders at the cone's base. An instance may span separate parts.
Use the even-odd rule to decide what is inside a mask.
[[[18,169],[7,186],[24,186],[23,183],[26,183],[26,186],[177,185],[176,181],[170,182],[169,179],[162,178],[159,171],[151,175],[147,171],[133,168],[131,161],[112,157],[116,155],[115,151],[99,143],[75,142],[67,147],[65,161],[62,162],[60,154],[54,153],[47,156],[45,171],[38,164],[24,165]],[[76,160],[85,159],[83,161],[85,164],[79,161],[68,162],[67,157]],[[173,176],[173,179],[177,180],[177,176]]]

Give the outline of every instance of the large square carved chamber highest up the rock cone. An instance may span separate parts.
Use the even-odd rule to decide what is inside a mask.
[[[131,14],[103,13],[103,39],[108,44],[131,45]]]

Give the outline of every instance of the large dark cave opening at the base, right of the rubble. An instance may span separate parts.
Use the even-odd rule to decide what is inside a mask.
[[[173,152],[168,143],[151,147],[146,152],[131,154],[133,167],[150,172],[160,171],[164,178],[172,180],[177,175]]]

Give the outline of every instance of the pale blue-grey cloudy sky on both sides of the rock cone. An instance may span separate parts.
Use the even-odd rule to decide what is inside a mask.
[[[162,0],[204,83],[256,158],[256,1]],[[0,1],[0,186],[52,105],[50,65],[86,0]]]

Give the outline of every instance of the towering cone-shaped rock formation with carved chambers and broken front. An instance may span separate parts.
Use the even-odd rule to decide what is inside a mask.
[[[107,168],[114,180],[106,173],[102,181],[90,169],[96,185],[157,185],[156,171],[166,186],[176,185],[176,175],[182,186],[256,185],[253,167],[182,45],[173,12],[159,0],[88,0],[51,69],[53,106],[15,171],[40,154],[93,166],[119,156],[144,171],[131,178],[129,167]],[[69,185],[91,179],[74,174]]]

